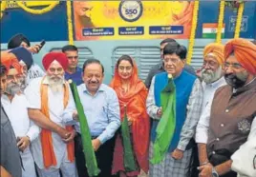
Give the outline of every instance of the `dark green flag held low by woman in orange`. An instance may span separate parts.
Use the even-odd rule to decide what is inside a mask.
[[[136,161],[134,158],[133,147],[131,143],[130,128],[128,125],[128,118],[126,108],[124,110],[124,118],[121,123],[121,137],[124,150],[123,164],[126,171],[137,170]]]

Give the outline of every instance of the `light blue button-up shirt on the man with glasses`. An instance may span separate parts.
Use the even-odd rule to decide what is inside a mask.
[[[120,126],[120,110],[117,93],[114,89],[101,84],[95,95],[90,94],[85,84],[77,87],[81,104],[87,118],[91,136],[96,136],[103,144],[111,139]],[[75,109],[75,103],[68,105],[63,117],[68,122],[70,112]],[[72,121],[72,119],[70,119]],[[79,124],[75,129],[80,132]]]

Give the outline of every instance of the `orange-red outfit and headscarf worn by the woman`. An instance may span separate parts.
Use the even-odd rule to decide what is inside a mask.
[[[118,74],[117,68],[115,70],[114,78],[110,84],[110,87],[115,89],[120,106],[121,121],[125,118],[125,109],[127,109],[127,117],[132,119],[132,125],[130,129],[132,131],[132,145],[133,151],[136,156],[136,160],[139,167],[143,171],[148,171],[148,147],[149,147],[149,132],[150,132],[150,120],[146,112],[146,98],[148,90],[144,83],[139,79],[138,68],[135,61],[133,61],[133,73],[130,78],[130,88],[127,92],[124,92],[121,88],[121,78]],[[123,124],[123,123],[122,123]],[[114,151],[114,162],[112,173],[116,174],[117,171],[129,171],[123,164],[124,157],[124,143],[120,134],[117,135],[116,146]],[[131,141],[131,140],[130,140]],[[127,164],[127,162],[124,162]],[[135,174],[136,175],[136,174]]]

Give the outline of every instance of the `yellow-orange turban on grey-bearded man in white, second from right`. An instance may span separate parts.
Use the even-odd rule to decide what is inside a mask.
[[[208,54],[213,55],[221,66],[224,65],[224,45],[218,43],[211,43],[203,49],[203,58]]]

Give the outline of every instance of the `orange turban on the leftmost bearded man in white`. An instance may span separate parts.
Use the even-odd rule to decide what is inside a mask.
[[[17,69],[19,73],[22,72],[22,68],[18,62],[18,59],[13,53],[9,53],[9,50],[7,51],[1,51],[1,65],[4,65],[7,70],[14,68]]]

